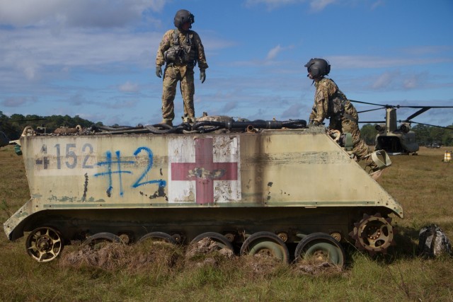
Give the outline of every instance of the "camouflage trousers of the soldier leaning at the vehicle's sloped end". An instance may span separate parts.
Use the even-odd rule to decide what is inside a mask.
[[[357,161],[361,161],[371,153],[369,146],[365,141],[360,137],[359,124],[357,122],[348,119],[347,117],[342,116],[340,120],[335,117],[331,117],[330,129],[339,130],[341,133],[348,132],[352,137],[352,153],[357,156]],[[371,156],[365,158],[365,165],[374,169],[377,168],[377,165],[372,160]]]

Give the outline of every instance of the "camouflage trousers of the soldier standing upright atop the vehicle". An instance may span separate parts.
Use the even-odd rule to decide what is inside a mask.
[[[176,86],[180,86],[184,102],[184,117],[195,117],[193,95],[195,84],[193,80],[193,67],[188,66],[166,66],[164,72],[164,88],[162,92],[162,117],[164,120],[175,118],[175,105],[173,101],[176,96]]]

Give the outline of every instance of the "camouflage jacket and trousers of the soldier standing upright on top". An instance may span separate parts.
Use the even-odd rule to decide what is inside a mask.
[[[184,117],[188,117],[195,121],[195,108],[193,105],[193,95],[195,94],[195,85],[193,79],[193,68],[198,62],[201,70],[207,69],[205,57],[205,48],[202,45],[200,36],[193,30],[188,30],[186,33],[179,29],[168,30],[161,40],[159,49],[157,50],[156,65],[164,65],[164,53],[175,45],[174,33],[178,34],[178,42],[180,46],[187,45],[187,39],[191,40],[190,53],[188,62],[183,62],[181,59],[175,62],[167,62],[164,71],[164,88],[162,93],[162,117],[164,122],[171,124],[175,117],[173,100],[176,95],[176,85],[180,81],[180,91],[184,101]]]

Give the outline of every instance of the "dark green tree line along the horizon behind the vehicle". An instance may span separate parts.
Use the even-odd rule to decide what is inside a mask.
[[[75,117],[70,117],[69,115],[51,115],[44,117],[40,115],[13,114],[11,117],[8,117],[0,111],[0,131],[4,132],[11,140],[21,137],[23,129],[27,126],[31,126],[34,129],[37,127],[45,127],[47,132],[53,132],[59,127],[73,128],[78,124],[83,128],[91,127],[93,124],[96,126],[103,126],[102,122],[91,122],[79,117],[79,115],[76,115]],[[374,128],[375,126],[376,124],[365,124],[362,129],[360,129],[362,138],[371,146],[376,143],[377,130]],[[412,130],[415,132],[418,144],[422,146],[432,143],[442,144],[443,146],[453,146],[453,125],[449,127],[452,129],[416,124],[412,127]]]

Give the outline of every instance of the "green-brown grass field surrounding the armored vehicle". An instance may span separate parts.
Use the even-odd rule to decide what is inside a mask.
[[[397,245],[386,256],[350,247],[339,270],[216,254],[188,259],[180,247],[136,245],[114,247],[101,263],[93,255],[74,261],[68,255],[87,254],[69,246],[59,260],[38,263],[28,257],[25,238],[10,242],[3,234],[0,301],[453,301],[453,258],[416,255],[418,231],[427,224],[453,239],[453,162],[442,162],[445,150],[391,157],[378,182],[405,217],[393,221]],[[29,198],[22,157],[1,148],[0,220]]]

